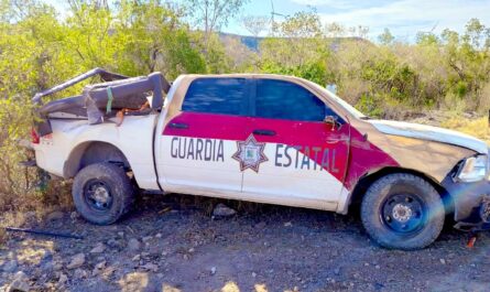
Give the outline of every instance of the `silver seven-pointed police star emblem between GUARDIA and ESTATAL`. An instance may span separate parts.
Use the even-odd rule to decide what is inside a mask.
[[[231,156],[240,162],[240,171],[251,169],[259,173],[260,163],[268,161],[264,154],[265,143],[257,142],[253,134],[250,134],[246,141],[237,141],[238,150]]]

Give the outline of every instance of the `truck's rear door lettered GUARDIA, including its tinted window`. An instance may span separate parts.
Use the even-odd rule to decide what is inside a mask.
[[[231,155],[236,141],[247,138],[248,84],[228,77],[192,82],[181,112],[163,131],[164,188],[241,191],[242,173]]]

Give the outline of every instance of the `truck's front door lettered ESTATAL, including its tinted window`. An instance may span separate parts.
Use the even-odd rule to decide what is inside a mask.
[[[254,93],[241,147],[243,192],[285,205],[335,209],[348,162],[348,122],[292,82],[260,78]],[[326,116],[335,116],[341,127],[325,123]]]

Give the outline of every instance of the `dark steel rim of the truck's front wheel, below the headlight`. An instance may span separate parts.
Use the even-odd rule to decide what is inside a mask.
[[[414,194],[394,194],[381,206],[381,220],[389,229],[411,235],[424,228],[426,223],[424,201]]]

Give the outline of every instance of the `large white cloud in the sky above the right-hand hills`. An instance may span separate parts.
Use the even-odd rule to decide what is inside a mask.
[[[301,1],[301,0],[294,0]],[[317,2],[327,2],[317,0]],[[324,22],[338,22],[347,26],[370,28],[370,36],[375,36],[384,28],[394,35],[413,37],[417,31],[440,32],[448,28],[462,31],[471,18],[478,18],[490,25],[490,1],[464,0],[402,0],[370,8],[351,9],[339,13],[322,11]]]

